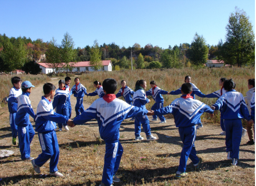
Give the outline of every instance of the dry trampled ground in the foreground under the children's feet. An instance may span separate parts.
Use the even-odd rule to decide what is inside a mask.
[[[57,85],[58,78],[52,83]],[[32,107],[36,107],[43,95],[42,85],[35,87],[29,96]],[[84,99],[85,109],[90,106]],[[72,118],[75,116],[74,96],[71,97]],[[149,117],[150,119],[152,116]],[[48,176],[49,161],[41,167],[41,174],[33,171],[30,161],[22,161],[17,146],[12,145],[7,107],[1,108],[0,150],[12,150],[13,156],[0,159],[1,185],[99,185],[104,165],[104,141],[100,139],[96,121],[70,128],[67,132],[56,132],[60,146],[58,169],[64,178]],[[35,127],[35,123],[32,121]],[[246,145],[248,137],[242,138],[238,166],[232,166],[225,152],[225,136],[219,135],[219,124],[204,123],[197,131],[195,147],[203,163],[199,170],[194,169],[188,160],[186,172],[189,177],[183,180],[174,178],[179,166],[182,142],[173,119],[165,124],[151,123],[151,132],[156,141],[135,141],[134,122],[127,119],[120,128],[120,142],[124,148],[117,177],[121,182],[114,185],[254,185],[255,146]],[[141,135],[145,138],[142,130]],[[41,154],[37,133],[31,144],[31,157]]]

